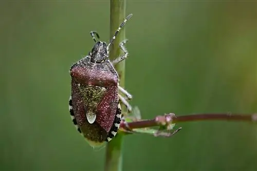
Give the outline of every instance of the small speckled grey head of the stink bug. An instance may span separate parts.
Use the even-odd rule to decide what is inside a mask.
[[[107,59],[107,44],[105,42],[97,42],[91,51],[91,62],[101,64]]]

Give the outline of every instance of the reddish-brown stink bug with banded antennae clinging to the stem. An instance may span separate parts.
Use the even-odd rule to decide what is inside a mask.
[[[128,55],[124,46],[126,40],[120,43],[123,55],[114,61],[110,61],[108,57],[109,47],[131,16],[132,14],[128,15],[121,23],[108,45],[97,41],[98,33],[91,31],[95,46],[85,58],[70,67],[70,115],[77,130],[93,147],[102,146],[117,134],[121,121],[119,100],[127,107],[128,112],[131,111],[127,100],[132,99],[132,96],[119,86],[119,75],[114,68],[115,64]],[[119,90],[126,98],[119,94]]]

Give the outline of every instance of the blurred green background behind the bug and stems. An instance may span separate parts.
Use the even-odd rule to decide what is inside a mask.
[[[68,111],[69,67],[109,39],[108,1],[2,1],[0,170],[103,170]],[[126,89],[142,117],[257,111],[257,3],[127,1]],[[257,170],[256,125],[124,138],[124,170]]]

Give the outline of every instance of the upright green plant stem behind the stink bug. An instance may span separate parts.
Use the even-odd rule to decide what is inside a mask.
[[[111,0],[111,29],[110,40],[112,39],[116,29],[125,18],[125,0]],[[110,60],[117,58],[120,55],[119,43],[125,39],[125,30],[122,28],[119,35],[116,37],[113,45],[110,47]],[[119,85],[124,87],[125,84],[125,61],[118,63],[115,66],[120,78]],[[121,106],[124,111],[124,105]],[[121,171],[122,170],[122,135],[117,135],[106,146],[105,171]]]

